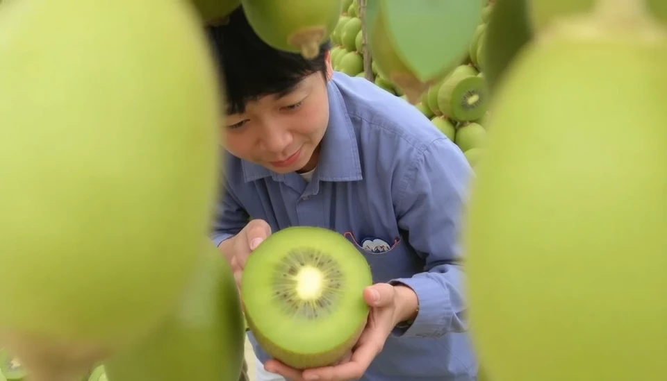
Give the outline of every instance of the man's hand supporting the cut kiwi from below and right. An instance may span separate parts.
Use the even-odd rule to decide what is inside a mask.
[[[270,359],[264,369],[290,381],[350,381],[361,378],[375,356],[381,352],[394,327],[401,321],[414,319],[418,309],[416,294],[403,285],[377,283],[366,287],[363,300],[370,307],[368,321],[352,352],[338,364],[299,371],[276,359]]]

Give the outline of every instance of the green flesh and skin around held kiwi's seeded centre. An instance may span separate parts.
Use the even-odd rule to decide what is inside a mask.
[[[327,262],[341,264],[332,268],[315,264],[315,267],[324,270],[323,273],[330,269],[341,271],[343,278],[340,278],[340,284],[345,291],[338,296],[345,301],[340,304],[334,301],[334,304],[324,307],[331,314],[322,314],[320,317],[316,317],[316,308],[314,319],[307,308],[299,308],[291,314],[292,311],[286,311],[282,304],[267,304],[274,292],[281,289],[275,280],[267,278],[268,274],[272,273],[272,277],[290,274],[288,269],[281,269],[283,263],[289,263],[292,255],[298,256],[299,252],[311,255],[311,250],[316,257],[318,253],[323,254],[319,258],[324,260],[325,265]],[[301,265],[303,263],[297,266]],[[249,329],[269,355],[295,369],[311,369],[335,364],[356,344],[368,321],[370,308],[362,294],[363,289],[370,285],[372,273],[367,260],[343,235],[324,228],[290,227],[275,232],[249,257],[242,278],[242,303]],[[335,291],[332,295],[336,295]],[[332,319],[324,316],[331,316]],[[345,319],[345,316],[349,319]],[[301,325],[296,319],[308,321],[304,320],[304,325]],[[280,328],[274,328],[274,322]],[[293,330],[299,332],[290,335]],[[304,331],[311,332],[313,337]],[[319,335],[320,332],[322,335]],[[290,342],[290,339],[293,341]]]

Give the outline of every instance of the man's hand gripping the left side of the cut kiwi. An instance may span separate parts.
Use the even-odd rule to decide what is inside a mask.
[[[223,241],[220,244],[220,251],[229,258],[231,269],[234,273],[236,286],[241,289],[241,277],[245,262],[250,253],[254,251],[259,244],[271,235],[271,227],[263,219],[254,219],[250,221],[237,235]]]

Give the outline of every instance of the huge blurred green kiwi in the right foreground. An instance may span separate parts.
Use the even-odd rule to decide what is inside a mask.
[[[667,33],[615,3],[553,24],[493,94],[462,242],[495,380],[667,373]]]

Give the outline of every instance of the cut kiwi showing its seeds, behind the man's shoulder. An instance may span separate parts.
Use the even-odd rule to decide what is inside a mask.
[[[484,79],[474,67],[461,65],[454,69],[438,90],[438,109],[456,121],[473,121],[486,112]]]

